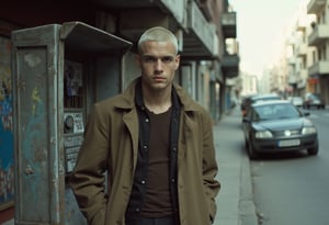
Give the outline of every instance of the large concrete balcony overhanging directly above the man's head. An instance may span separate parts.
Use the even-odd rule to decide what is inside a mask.
[[[197,1],[94,1],[99,7],[111,9],[118,14],[117,33],[131,42],[137,42],[146,29],[161,25],[175,32],[179,38],[179,50],[184,58],[214,59],[218,57],[216,26],[205,19]]]

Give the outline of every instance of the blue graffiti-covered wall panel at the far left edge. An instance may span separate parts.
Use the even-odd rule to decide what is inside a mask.
[[[0,36],[0,211],[13,205],[14,156],[11,86],[11,43]]]

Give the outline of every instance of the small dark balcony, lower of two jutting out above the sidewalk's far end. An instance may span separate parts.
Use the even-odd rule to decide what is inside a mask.
[[[222,58],[222,70],[226,78],[235,78],[239,75],[240,58],[237,54],[226,54]]]

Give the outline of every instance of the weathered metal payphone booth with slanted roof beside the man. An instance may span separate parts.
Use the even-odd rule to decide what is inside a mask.
[[[12,32],[16,225],[87,224],[67,179],[91,104],[121,91],[131,46],[81,22]]]

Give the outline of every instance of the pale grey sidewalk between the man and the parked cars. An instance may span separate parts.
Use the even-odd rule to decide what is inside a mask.
[[[216,199],[214,225],[257,225],[249,158],[245,150],[238,108],[224,115],[214,126],[218,180],[222,189]]]

